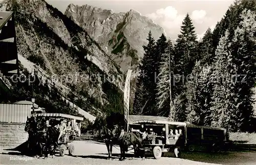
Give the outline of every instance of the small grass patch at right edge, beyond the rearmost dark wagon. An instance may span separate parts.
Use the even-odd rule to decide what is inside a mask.
[[[256,144],[256,133],[230,132],[229,140],[237,143]]]

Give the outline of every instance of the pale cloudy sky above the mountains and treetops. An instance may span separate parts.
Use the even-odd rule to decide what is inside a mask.
[[[207,28],[212,30],[225,15],[233,0],[46,0],[53,7],[65,13],[69,4],[91,5],[102,9],[112,9],[115,13],[128,12],[130,9],[140,12],[162,26],[167,37],[176,39],[180,34],[180,26],[188,13],[193,20],[198,39],[203,37]]]

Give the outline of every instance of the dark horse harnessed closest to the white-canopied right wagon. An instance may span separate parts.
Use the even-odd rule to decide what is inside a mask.
[[[143,148],[143,138],[141,133],[137,131],[126,132],[122,130],[118,125],[115,125],[112,133],[118,139],[121,152],[119,160],[125,159],[125,152],[128,151],[128,147],[131,145],[134,149],[134,157],[140,156],[143,159],[145,158],[144,150],[141,150]]]

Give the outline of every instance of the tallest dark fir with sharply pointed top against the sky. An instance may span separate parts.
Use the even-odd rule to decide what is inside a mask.
[[[179,121],[186,120],[186,97],[185,97],[185,82],[188,74],[191,73],[191,70],[194,66],[194,61],[198,59],[197,57],[197,35],[195,33],[195,27],[187,14],[182,21],[181,26],[181,34],[178,35],[178,39],[175,44],[175,93],[177,96],[181,98],[183,102],[181,107],[183,109],[179,109],[179,113],[177,115],[180,117]],[[182,92],[183,91],[183,92]],[[176,117],[178,117],[176,116]]]

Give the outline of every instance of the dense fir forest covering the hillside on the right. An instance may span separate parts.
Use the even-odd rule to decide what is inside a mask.
[[[256,2],[236,1],[199,42],[187,14],[175,43],[151,32],[133,114],[249,131],[256,77]]]

